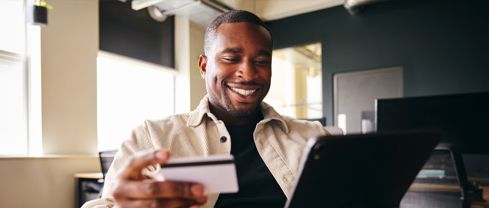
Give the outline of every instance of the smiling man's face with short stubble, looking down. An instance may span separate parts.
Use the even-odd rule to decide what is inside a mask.
[[[207,55],[199,65],[210,103],[235,117],[254,113],[270,89],[272,37],[268,31],[248,22],[221,24]]]

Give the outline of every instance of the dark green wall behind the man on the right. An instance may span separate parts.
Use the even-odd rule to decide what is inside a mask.
[[[337,6],[267,22],[274,48],[322,44],[323,114],[333,74],[404,68],[404,96],[489,91],[489,1],[386,1],[351,16]]]

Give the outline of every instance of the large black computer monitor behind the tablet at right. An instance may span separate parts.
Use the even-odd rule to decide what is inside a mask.
[[[377,132],[438,129],[465,154],[489,154],[489,92],[376,101]]]

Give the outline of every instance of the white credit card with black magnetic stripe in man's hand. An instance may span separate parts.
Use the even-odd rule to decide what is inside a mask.
[[[238,192],[238,176],[233,155],[175,158],[152,173],[156,180],[197,182],[204,186],[204,193]]]

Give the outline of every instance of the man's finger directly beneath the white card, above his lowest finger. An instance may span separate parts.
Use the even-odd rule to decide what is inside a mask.
[[[127,181],[119,184],[113,192],[115,198],[152,199],[180,198],[199,199],[204,194],[204,187],[192,182],[177,181]]]

